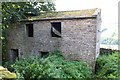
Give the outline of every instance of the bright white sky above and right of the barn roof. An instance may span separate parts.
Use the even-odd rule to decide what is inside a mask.
[[[108,30],[102,35],[111,35],[111,31],[118,33],[118,2],[120,0],[56,0],[56,11],[83,10],[101,8],[101,30]]]

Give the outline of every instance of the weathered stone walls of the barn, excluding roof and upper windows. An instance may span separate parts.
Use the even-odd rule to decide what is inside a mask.
[[[51,37],[51,22],[61,22],[61,38]],[[33,23],[34,37],[27,36],[28,23]],[[11,49],[19,49],[19,57],[59,50],[66,59],[82,60],[94,67],[99,54],[100,23],[98,14],[94,18],[38,20],[13,25],[9,29],[9,58],[13,58]]]

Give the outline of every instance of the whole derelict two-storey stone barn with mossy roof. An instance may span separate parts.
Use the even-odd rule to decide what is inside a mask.
[[[26,54],[44,56],[59,50],[67,59],[94,66],[99,55],[101,10],[58,11],[21,20],[9,28],[11,61]]]

